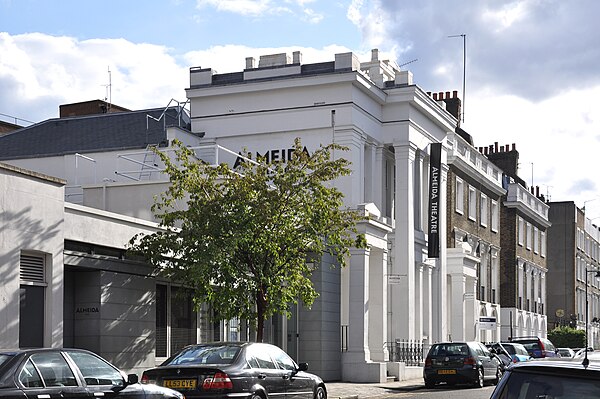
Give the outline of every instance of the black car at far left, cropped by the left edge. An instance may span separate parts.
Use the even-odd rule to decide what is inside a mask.
[[[0,398],[184,399],[82,349],[0,350]]]

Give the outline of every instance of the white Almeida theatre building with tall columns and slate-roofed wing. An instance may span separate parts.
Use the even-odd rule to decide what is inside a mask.
[[[175,292],[184,288],[148,278],[143,265],[119,251],[133,236],[132,230],[156,228],[149,209],[152,196],[164,191],[166,177],[148,146],[168,150],[177,138],[205,162],[234,166],[246,151],[285,160],[300,138],[308,152],[332,142],[348,148],[334,156],[351,161],[352,173],[333,184],[344,193],[346,206],[370,215],[358,226],[369,246],[353,249],[343,269],[330,267],[332,259],[323,258],[314,275],[320,293],[315,304],[311,309],[299,305],[291,319],[270,320],[266,340],[296,360],[309,362],[311,371],[327,381],[384,382],[388,376],[406,377],[394,357],[396,341],[427,347],[452,337],[457,327],[451,319],[456,311],[449,311],[454,305],[448,302],[454,294],[448,292],[445,199],[447,135],[455,131],[457,119],[446,102],[417,86],[409,71],[380,60],[377,50],[364,62],[353,53],[342,53],[325,62],[303,64],[301,54],[294,52],[247,58],[245,68],[234,73],[193,67],[186,93],[189,114],[176,104],[164,112],[73,115],[0,137],[0,161],[61,179],[50,183],[60,186],[57,197],[64,192],[68,203],[62,205],[63,212],[98,212],[95,217],[113,218],[113,228],[121,229],[111,240],[98,241],[95,227],[81,231],[75,223],[70,238],[63,237],[64,248],[58,245],[61,239],[54,238],[50,253],[53,259],[62,253],[65,266],[45,282],[46,290],[55,295],[46,315],[60,308],[63,313],[73,311],[73,323],[80,317],[96,317],[103,345],[99,353],[117,353],[130,345],[145,354],[132,369],[154,364],[184,343],[252,339],[243,320],[215,324],[209,321],[209,307],[195,312],[188,304],[175,303],[179,298]],[[53,140],[57,135],[64,140]],[[486,190],[497,195],[493,182]],[[35,190],[31,195],[37,195]],[[434,201],[432,208],[430,200],[435,197],[443,200]],[[29,210],[21,212],[27,215]],[[122,215],[121,220],[114,215]],[[433,232],[432,222],[437,224]],[[495,241],[490,242],[495,248]],[[4,273],[6,264],[19,264],[14,254],[27,246],[0,244],[13,253],[11,262],[2,264]],[[103,253],[116,254],[108,266],[99,261]],[[72,260],[72,254],[85,261]],[[90,291],[89,301],[79,303],[77,290],[83,295],[81,287],[88,281],[94,282],[95,291]],[[109,287],[122,295],[107,292]],[[126,288],[137,294],[128,296],[121,291]],[[137,303],[134,297],[143,306],[131,307]],[[118,298],[117,306],[111,299]],[[11,309],[1,311],[7,320],[14,320],[7,328],[18,330],[19,319],[10,319],[17,309]],[[104,340],[113,331],[111,320],[130,316],[146,320],[150,332],[140,335],[139,341]],[[44,321],[50,323],[44,329],[44,343],[88,345],[70,336],[74,331],[80,339],[78,329],[67,328],[71,321],[66,316],[53,317]],[[139,325],[131,326],[131,335],[137,334],[134,327]],[[142,333],[146,332],[144,328]],[[18,346],[16,338],[10,343]],[[118,355],[114,358],[118,360]],[[413,372],[418,377],[421,370],[415,367]]]

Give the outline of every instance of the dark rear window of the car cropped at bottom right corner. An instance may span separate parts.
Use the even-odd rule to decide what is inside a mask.
[[[512,372],[500,398],[597,398],[600,397],[600,379]]]

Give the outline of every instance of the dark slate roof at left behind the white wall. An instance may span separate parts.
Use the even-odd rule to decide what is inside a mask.
[[[157,108],[49,119],[0,136],[0,160],[143,149],[148,144],[160,144],[167,139],[165,125],[178,125],[178,108],[169,108],[159,122],[147,115],[158,119],[164,111]],[[189,117],[182,116],[182,121],[182,125],[188,123]]]

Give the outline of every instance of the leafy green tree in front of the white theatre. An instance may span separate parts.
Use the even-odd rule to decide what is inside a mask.
[[[218,319],[238,317],[256,327],[289,317],[291,304],[310,307],[318,293],[310,260],[332,254],[345,265],[350,247],[365,247],[356,223],[363,217],[344,209],[331,181],[350,174],[349,161],[332,159],[336,144],[312,155],[300,140],[287,162],[263,159],[210,166],[175,143],[173,159],[160,153],[168,190],[152,212],[164,228],[133,237],[130,249],[143,255],[171,281],[191,287],[196,307],[212,305]]]

